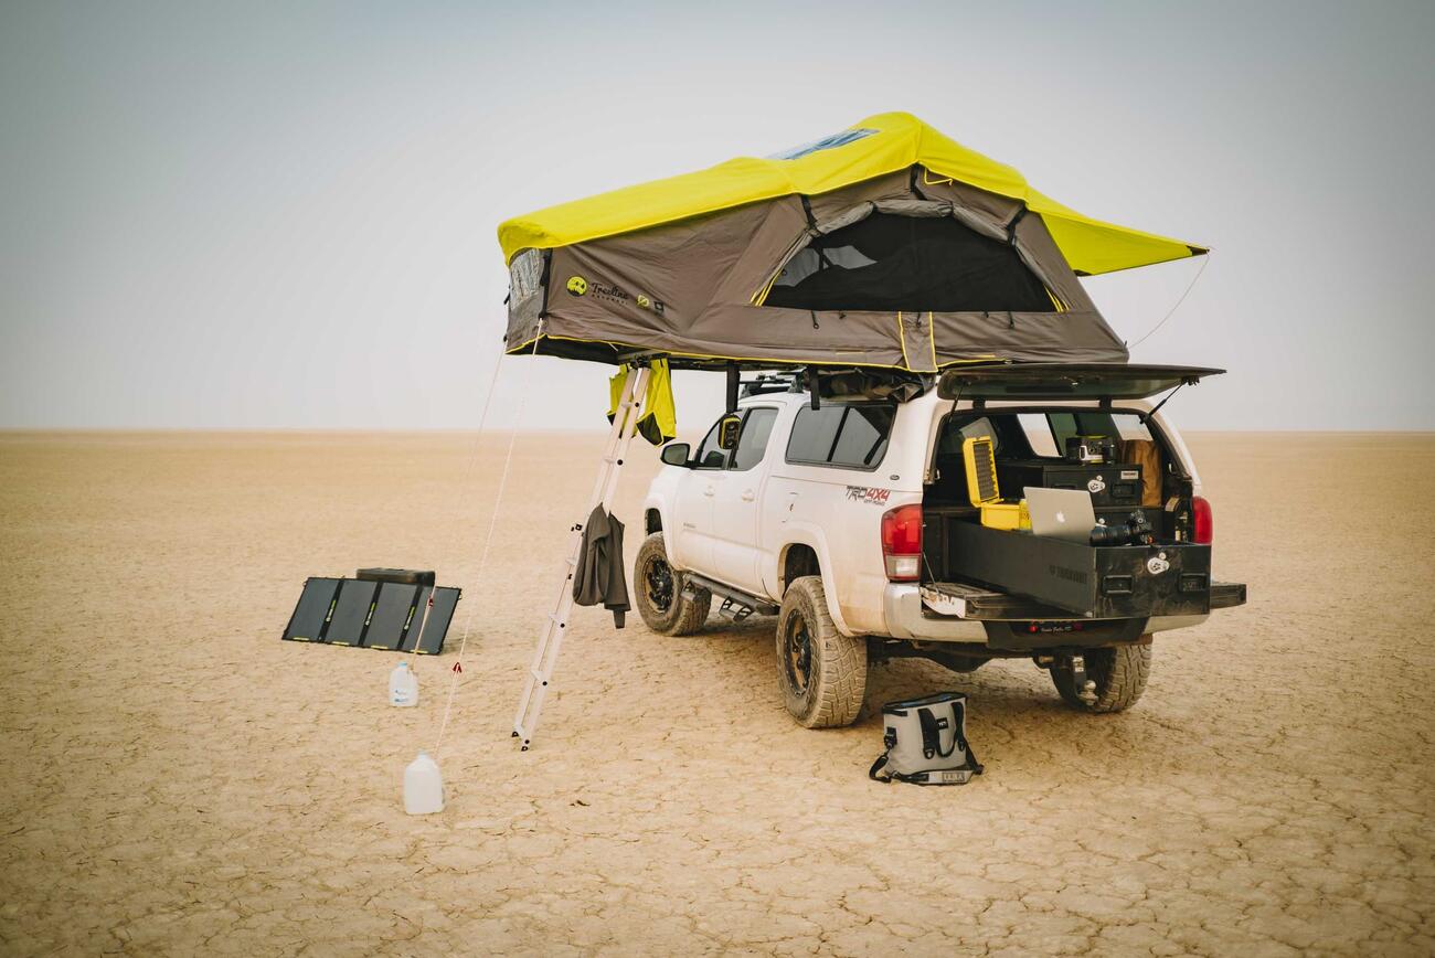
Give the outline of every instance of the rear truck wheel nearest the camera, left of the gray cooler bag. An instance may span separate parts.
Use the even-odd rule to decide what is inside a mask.
[[[778,684],[808,729],[850,726],[867,691],[867,640],[837,631],[822,577],[794,579],[778,612]]]

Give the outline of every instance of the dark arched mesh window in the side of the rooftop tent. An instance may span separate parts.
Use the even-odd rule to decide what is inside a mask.
[[[880,313],[1053,313],[1009,244],[950,217],[874,212],[817,237],[788,261],[763,305]]]

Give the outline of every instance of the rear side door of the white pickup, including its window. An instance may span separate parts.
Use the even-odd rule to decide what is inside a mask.
[[[758,516],[768,478],[763,460],[776,422],[778,410],[771,406],[746,410],[738,447],[716,478],[712,499],[712,577],[758,594],[763,591],[758,575]]]

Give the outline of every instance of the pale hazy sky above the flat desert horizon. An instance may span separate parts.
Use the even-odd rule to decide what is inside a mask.
[[[908,110],[1214,254],[1187,429],[1435,429],[1435,4],[0,3],[0,427],[472,427],[501,219]],[[1128,341],[1200,260],[1088,280]],[[492,425],[601,429],[508,359]],[[690,432],[719,374],[679,376]]]

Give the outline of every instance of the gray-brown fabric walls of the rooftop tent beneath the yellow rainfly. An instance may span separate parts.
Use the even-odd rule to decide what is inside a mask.
[[[736,361],[933,373],[993,360],[1126,361],[1125,344],[1039,214],[1016,199],[931,179],[914,166],[822,195],[779,196],[552,250],[522,250],[509,267],[507,348],[606,363],[663,356],[676,369]],[[957,311],[763,304],[773,290],[791,301],[794,278],[814,264],[871,264],[851,248],[821,245],[874,215],[947,219],[951,224],[940,228],[960,231],[963,242],[989,244],[984,255],[1006,255],[992,244],[1013,250],[1050,305],[1033,308],[1030,297],[1016,310],[1000,303]],[[951,283],[950,275],[930,280]]]

